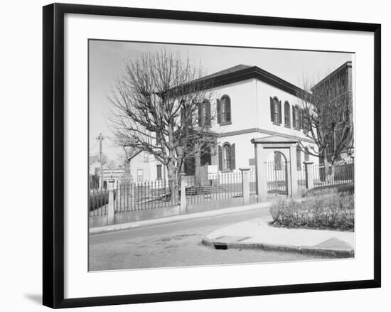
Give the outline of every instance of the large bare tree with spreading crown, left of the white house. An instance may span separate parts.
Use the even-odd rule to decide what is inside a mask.
[[[202,70],[188,58],[166,50],[145,53],[127,60],[109,96],[117,142],[146,151],[166,166],[173,203],[178,203],[185,159],[215,141],[209,131],[211,86],[200,77]],[[203,114],[200,109],[208,107]]]

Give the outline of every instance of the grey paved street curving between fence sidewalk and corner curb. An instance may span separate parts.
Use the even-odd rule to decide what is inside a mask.
[[[303,254],[262,250],[217,250],[201,244],[202,237],[213,230],[266,215],[269,215],[269,208],[90,235],[90,270],[321,259]]]

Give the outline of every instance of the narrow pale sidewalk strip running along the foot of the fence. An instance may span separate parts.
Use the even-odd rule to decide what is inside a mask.
[[[122,224],[117,224],[117,225],[106,225],[104,227],[92,227],[92,228],[90,228],[89,232],[90,232],[90,235],[95,235],[95,234],[101,234],[101,233],[106,233],[106,232],[129,230],[129,229],[134,229],[136,227],[148,227],[151,225],[161,225],[161,224],[167,224],[167,223],[173,223],[173,222],[181,222],[184,220],[198,219],[201,217],[212,217],[215,215],[227,215],[230,213],[240,213],[243,211],[257,210],[257,209],[264,210],[264,209],[269,209],[270,205],[272,205],[272,202],[269,201],[269,202],[264,202],[264,203],[255,203],[252,205],[237,206],[237,207],[233,207],[233,208],[210,210],[210,211],[205,211],[203,213],[189,213],[187,215],[174,215],[172,217],[160,217],[160,218],[151,219],[151,220],[122,223]]]

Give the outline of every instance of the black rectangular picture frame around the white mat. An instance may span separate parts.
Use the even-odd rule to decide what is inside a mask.
[[[181,291],[159,294],[129,294],[90,298],[64,298],[64,15],[95,14],[163,18],[181,21],[288,26],[374,34],[374,279],[318,284],[259,286],[237,289]],[[43,7],[43,304],[51,308],[102,306],[123,303],[195,300],[232,296],[303,293],[380,287],[381,208],[381,25],[343,21],[318,21],[190,11],[166,11],[114,6],[50,4]]]

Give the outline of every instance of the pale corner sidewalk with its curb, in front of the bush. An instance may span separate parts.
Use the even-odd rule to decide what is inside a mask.
[[[325,257],[354,257],[355,233],[269,226],[271,217],[236,223],[210,232],[203,244],[215,249],[264,249]]]

